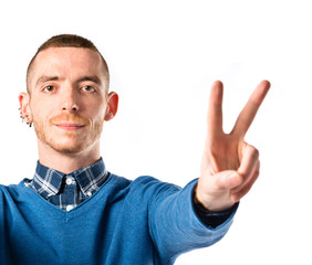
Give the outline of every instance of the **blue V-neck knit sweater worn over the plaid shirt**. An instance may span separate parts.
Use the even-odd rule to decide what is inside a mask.
[[[23,181],[0,186],[0,264],[173,264],[179,254],[219,241],[232,222],[216,229],[200,222],[191,200],[196,183],[180,189],[152,177],[111,174],[69,212]]]

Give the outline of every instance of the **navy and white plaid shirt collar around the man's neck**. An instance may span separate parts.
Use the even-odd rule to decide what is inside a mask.
[[[61,192],[62,183],[65,179],[64,177],[73,177],[82,194],[89,198],[96,192],[106,180],[107,171],[102,158],[97,162],[77,169],[69,174],[46,168],[38,161],[34,177],[29,186],[43,198],[49,199]]]

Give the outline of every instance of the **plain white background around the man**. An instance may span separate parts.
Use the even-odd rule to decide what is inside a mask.
[[[247,136],[261,176],[227,236],[176,264],[312,264],[312,8],[309,1],[1,1],[0,183],[31,178],[34,131],[18,95],[38,46],[59,33],[106,57],[119,110],[102,155],[110,171],[185,186],[199,176],[209,88],[225,83],[229,131],[261,80],[272,87]]]

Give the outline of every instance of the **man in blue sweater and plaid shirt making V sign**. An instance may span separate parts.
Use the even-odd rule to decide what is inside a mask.
[[[118,105],[108,83],[105,60],[81,36],[53,36],[32,59],[19,100],[22,119],[34,126],[39,161],[33,179],[0,186],[1,264],[173,264],[230,227],[259,176],[258,150],[243,138],[269,82],[229,135],[222,84],[212,85],[201,174],[184,189],[106,171],[100,136]]]

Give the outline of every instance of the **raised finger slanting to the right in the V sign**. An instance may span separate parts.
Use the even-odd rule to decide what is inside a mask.
[[[261,106],[271,84],[269,81],[262,81],[251,94],[249,100],[239,114],[232,134],[245,136],[250,125],[252,124],[256,114]]]

